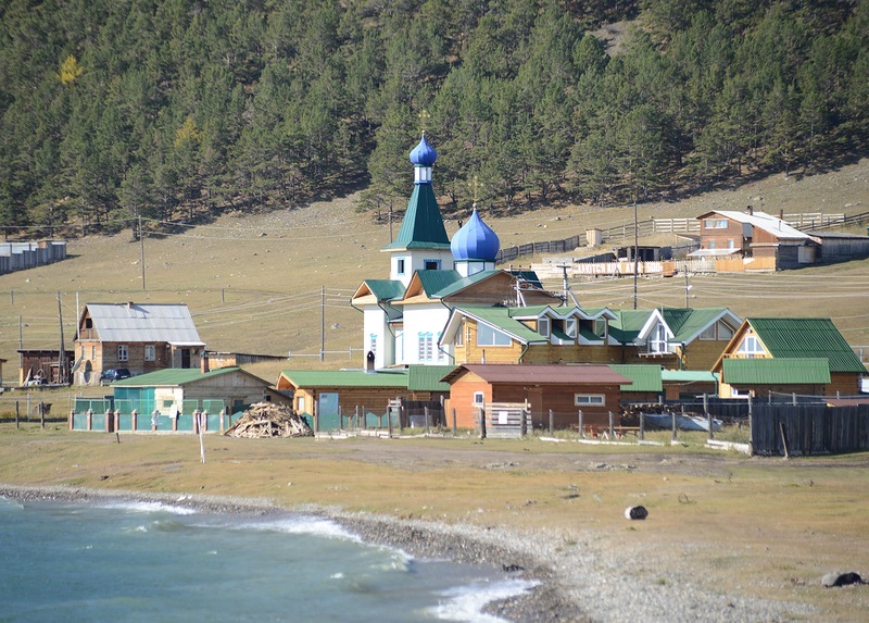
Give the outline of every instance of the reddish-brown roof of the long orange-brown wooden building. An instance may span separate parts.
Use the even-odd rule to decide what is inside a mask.
[[[630,385],[627,376],[615,372],[608,365],[565,365],[565,364],[506,364],[466,363],[444,377],[453,383],[467,372],[481,377],[487,383],[524,383],[533,385]]]

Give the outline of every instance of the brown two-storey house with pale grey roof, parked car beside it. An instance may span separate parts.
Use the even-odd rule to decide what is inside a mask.
[[[78,320],[74,384],[95,385],[109,369],[134,375],[199,369],[203,342],[185,304],[87,303]]]

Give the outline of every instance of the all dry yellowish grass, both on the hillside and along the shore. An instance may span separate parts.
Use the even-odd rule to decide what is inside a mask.
[[[408,194],[410,186],[408,172]],[[869,160],[823,176],[770,176],[639,210],[640,219],[681,217],[747,204],[769,213],[865,212]],[[633,211],[575,207],[484,217],[507,247],[631,222]],[[446,227],[452,235],[457,223],[450,220]],[[349,299],[363,278],[386,276],[388,261],[380,249],[388,241],[388,227],[357,213],[352,197],[226,215],[184,235],[148,238],[142,287],[141,248],[129,232],[71,240],[70,260],[0,276],[4,385],[17,381],[20,327],[24,348],[58,348],[59,292],[67,348],[86,302],[182,302],[211,349],[293,353],[290,361],[250,367],[263,378],[275,381],[284,367],[358,366],[358,352],[344,353],[362,339],[362,316]],[[869,261],[697,276],[691,285],[692,307],[726,306],[743,316],[829,316],[853,346],[869,346]],[[632,279],[572,287],[585,306],[632,306]],[[640,307],[683,306],[684,281],[641,281],[638,300]],[[326,350],[341,352],[330,352],[325,362],[305,357],[318,352],[320,339]],[[74,394],[102,393],[73,388],[38,396],[62,412]],[[8,391],[0,411],[9,414],[10,400],[24,396]],[[508,525],[520,535],[545,531],[563,539],[559,556],[590,541],[631,552],[642,561],[630,571],[638,578],[666,584],[675,570],[734,595],[813,603],[819,608],[813,621],[865,621],[866,587],[823,589],[819,578],[831,571],[869,576],[869,454],[750,459],[713,453],[690,436],[684,440],[594,447],[537,437],[250,440],[215,435],[206,437],[203,464],[191,435],[122,435],[118,443],[113,435],[70,433],[59,423],[16,428],[5,420],[0,482],[245,496],[287,507],[315,503]],[[648,520],[624,520],[624,509],[638,503],[650,509]]]

